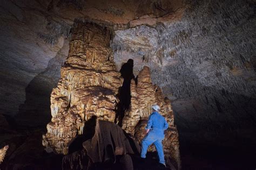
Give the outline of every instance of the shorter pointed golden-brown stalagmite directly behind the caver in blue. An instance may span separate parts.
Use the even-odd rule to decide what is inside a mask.
[[[149,67],[144,67],[139,72],[137,79],[137,84],[134,80],[131,81],[131,105],[130,110],[125,113],[122,128],[127,133],[133,134],[140,142],[144,138],[147,119],[151,114],[151,106],[158,104],[160,114],[169,123],[169,129],[166,130],[163,141],[165,155],[171,159],[172,164],[180,167],[178,132],[173,124],[171,102],[163,96],[158,86],[153,86]],[[156,151],[152,145],[149,150]]]

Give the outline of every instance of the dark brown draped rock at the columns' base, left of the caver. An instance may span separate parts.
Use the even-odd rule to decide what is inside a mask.
[[[116,162],[118,155],[138,154],[137,141],[127,138],[120,126],[107,121],[97,121],[95,135],[83,143],[93,163]]]

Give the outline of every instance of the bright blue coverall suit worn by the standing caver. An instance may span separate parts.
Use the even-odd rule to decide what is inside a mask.
[[[146,158],[147,147],[152,143],[156,146],[160,164],[165,164],[162,140],[164,140],[164,131],[168,128],[165,118],[157,111],[153,111],[147,122],[146,130],[151,129],[142,140],[142,152],[140,157]]]

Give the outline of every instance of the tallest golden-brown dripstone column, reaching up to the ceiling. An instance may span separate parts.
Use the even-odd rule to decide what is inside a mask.
[[[77,22],[61,79],[51,93],[51,122],[43,135],[46,150],[68,153],[70,141],[83,134],[92,116],[114,122],[118,88],[122,78],[109,47],[106,27]]]

